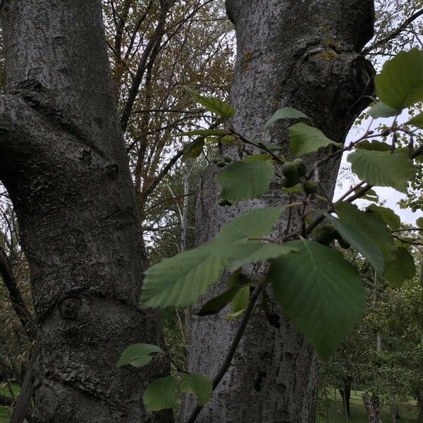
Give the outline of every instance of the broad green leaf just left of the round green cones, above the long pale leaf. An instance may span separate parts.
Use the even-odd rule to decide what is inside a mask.
[[[230,202],[261,197],[269,190],[274,166],[268,161],[235,161],[216,176],[223,187],[221,198]]]

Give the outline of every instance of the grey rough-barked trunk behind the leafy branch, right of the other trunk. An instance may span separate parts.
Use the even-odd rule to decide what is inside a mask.
[[[258,140],[265,121],[282,106],[293,106],[333,140],[343,142],[357,114],[373,92],[372,67],[358,55],[372,37],[372,0],[227,0],[235,24],[238,59],[231,104],[238,110],[235,128]],[[271,131],[271,141],[287,145],[286,126]],[[240,158],[238,149],[223,154]],[[339,160],[320,172],[333,192]],[[219,207],[218,169],[212,165],[202,178],[197,201],[200,222],[197,242],[205,243],[236,216],[249,209],[284,204],[287,198],[274,184],[259,200]],[[286,216],[278,231],[286,227]],[[293,220],[293,225],[298,222]],[[216,295],[222,286],[214,288]],[[192,316],[188,366],[214,376],[230,344],[237,323],[229,324],[227,310],[215,317]],[[295,326],[283,319],[276,329],[257,309],[247,327],[233,366],[207,404],[198,422],[311,423],[316,408],[317,365],[312,349]],[[266,372],[261,391],[255,390],[259,372]],[[185,416],[193,404],[185,406]]]

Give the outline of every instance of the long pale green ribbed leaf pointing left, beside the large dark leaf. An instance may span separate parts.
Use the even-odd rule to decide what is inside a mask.
[[[250,238],[267,235],[283,208],[255,209],[221,229],[213,243],[162,260],[145,272],[142,307],[189,305],[219,281],[225,266],[243,264],[295,252],[293,247]]]

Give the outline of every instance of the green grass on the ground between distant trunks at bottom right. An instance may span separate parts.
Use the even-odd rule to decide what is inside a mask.
[[[354,391],[351,393],[351,417],[349,423],[366,423],[367,415],[364,410],[361,392]],[[400,405],[400,422],[401,423],[415,423],[417,419],[417,406],[415,402],[410,401],[408,404]],[[382,422],[391,422],[391,412],[388,406],[382,409]],[[326,417],[326,405],[322,402],[319,403],[316,423],[346,423],[343,412],[341,398],[338,396],[338,401],[335,402],[333,398],[329,398],[329,419]]]

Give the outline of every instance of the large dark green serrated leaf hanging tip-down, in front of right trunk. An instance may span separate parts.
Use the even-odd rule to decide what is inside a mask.
[[[272,262],[274,298],[327,360],[364,314],[360,276],[336,250],[307,240],[288,244],[298,253]]]

